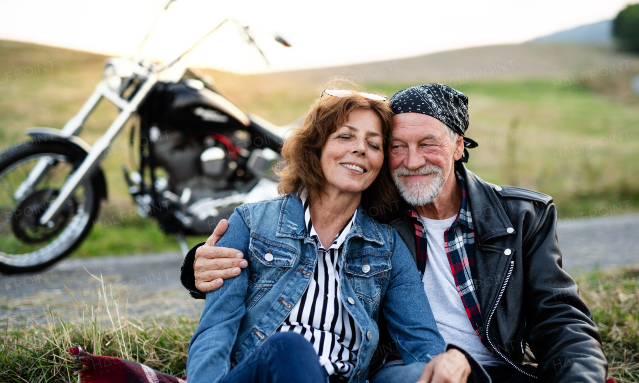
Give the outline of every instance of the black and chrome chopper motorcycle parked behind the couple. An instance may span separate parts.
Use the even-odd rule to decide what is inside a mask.
[[[227,22],[238,24],[266,60],[249,27],[235,20],[222,21],[169,64],[108,59],[104,79],[61,130],[29,128],[30,141],[0,153],[0,272],[43,269],[82,243],[107,198],[100,160],[130,120],[137,121],[129,142],[138,147],[139,169],[123,165],[128,192],[137,213],[175,234],[184,253],[185,235],[210,234],[236,206],[277,196],[271,169],[281,161],[285,129],[246,114],[198,71],[169,71]],[[78,135],[103,98],[119,114],[90,146]]]

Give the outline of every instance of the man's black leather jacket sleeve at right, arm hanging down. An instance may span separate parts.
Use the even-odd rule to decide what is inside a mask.
[[[562,269],[555,204],[537,204],[537,216],[523,240],[528,345],[548,382],[606,380],[608,363],[592,315],[576,282]]]

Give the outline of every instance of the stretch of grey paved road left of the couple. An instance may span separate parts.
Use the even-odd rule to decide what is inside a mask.
[[[118,301],[121,313],[158,320],[175,315],[197,319],[204,301],[192,299],[182,287],[182,260],[180,253],[78,258],[39,273],[0,276],[0,327],[6,327],[7,320],[45,323],[47,307],[63,320],[81,320],[82,308],[88,313],[91,307],[104,308],[105,292],[110,305]],[[102,278],[104,288],[89,273]]]

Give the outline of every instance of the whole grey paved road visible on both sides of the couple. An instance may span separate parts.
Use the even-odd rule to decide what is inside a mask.
[[[639,214],[558,223],[557,236],[569,273],[639,264]],[[179,253],[68,259],[40,273],[0,276],[0,326],[46,322],[43,308],[64,320],[79,320],[82,310],[104,305],[102,278],[120,312],[162,320],[174,315],[197,319],[204,301],[181,287]],[[85,270],[86,268],[86,270]],[[67,292],[66,288],[69,292]],[[111,301],[111,299],[109,299]]]

